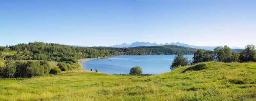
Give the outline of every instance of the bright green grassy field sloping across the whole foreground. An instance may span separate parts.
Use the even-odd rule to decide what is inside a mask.
[[[85,70],[0,79],[1,101],[256,101],[256,63],[204,62],[153,76]]]

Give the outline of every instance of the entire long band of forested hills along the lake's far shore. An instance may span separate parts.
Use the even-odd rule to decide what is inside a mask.
[[[76,47],[55,43],[29,42],[28,44],[17,44],[14,46],[0,47],[0,51],[17,51],[16,55],[26,57],[13,59],[47,60],[47,61],[73,61],[82,58],[111,57],[115,55],[174,55],[177,53],[194,54],[197,49],[183,46],[141,46],[133,48],[111,48],[111,47]],[[22,53],[21,53],[22,52]],[[11,56],[9,56],[11,57]],[[7,58],[9,58],[7,56]]]

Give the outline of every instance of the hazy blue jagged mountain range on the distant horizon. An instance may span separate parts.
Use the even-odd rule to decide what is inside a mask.
[[[109,46],[109,47],[117,47],[117,48],[124,48],[124,47],[137,47],[137,46],[163,46],[163,45],[176,45],[176,46],[184,46],[184,47],[189,47],[189,48],[197,48],[197,49],[205,49],[205,50],[211,50],[213,51],[214,48],[216,48],[217,46],[193,46],[193,45],[189,45],[189,44],[182,44],[180,42],[176,42],[176,43],[165,43],[165,44],[156,44],[156,43],[149,43],[149,42],[133,42],[132,44],[126,44],[126,43],[123,43],[123,44],[120,44],[120,45],[112,45],[112,46]],[[234,49],[234,48],[238,48],[238,49],[242,49],[240,47],[231,47],[231,49]]]

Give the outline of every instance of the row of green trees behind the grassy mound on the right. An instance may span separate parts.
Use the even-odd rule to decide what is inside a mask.
[[[189,60],[184,57],[183,53],[178,53],[173,59],[170,69],[177,68],[179,66],[192,65],[206,61],[220,61],[220,62],[256,62],[256,49],[253,44],[246,45],[245,49],[242,49],[240,53],[232,52],[228,46],[218,46],[214,48],[214,51],[203,51],[198,49],[193,57],[193,60]]]

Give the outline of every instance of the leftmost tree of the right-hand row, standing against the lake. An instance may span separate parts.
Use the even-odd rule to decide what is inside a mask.
[[[178,53],[173,59],[172,65],[170,66],[170,69],[173,70],[173,68],[178,68],[179,66],[187,66],[189,65],[189,61],[187,57],[184,57],[183,53]]]

